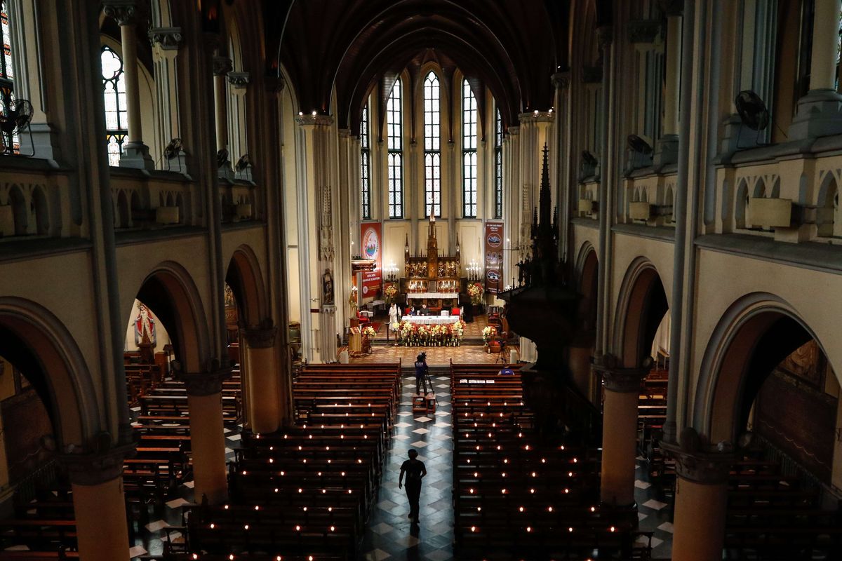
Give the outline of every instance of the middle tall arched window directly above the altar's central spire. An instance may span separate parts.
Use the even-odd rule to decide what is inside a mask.
[[[441,216],[441,112],[439,78],[424,79],[424,216]]]

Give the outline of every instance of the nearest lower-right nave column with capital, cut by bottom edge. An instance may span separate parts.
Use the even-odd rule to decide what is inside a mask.
[[[662,442],[675,458],[673,558],[719,561],[725,542],[727,477],[732,453],[704,450],[691,428],[681,433],[680,445]]]

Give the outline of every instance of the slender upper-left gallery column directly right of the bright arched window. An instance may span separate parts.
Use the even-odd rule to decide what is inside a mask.
[[[120,156],[121,167],[155,169],[155,162],[149,156],[149,146],[143,144],[141,125],[141,98],[138,89],[137,72],[137,22],[135,0],[107,0],[103,10],[120,25],[120,46],[123,49],[123,75],[125,77],[125,112],[128,117],[128,143],[123,145]]]

